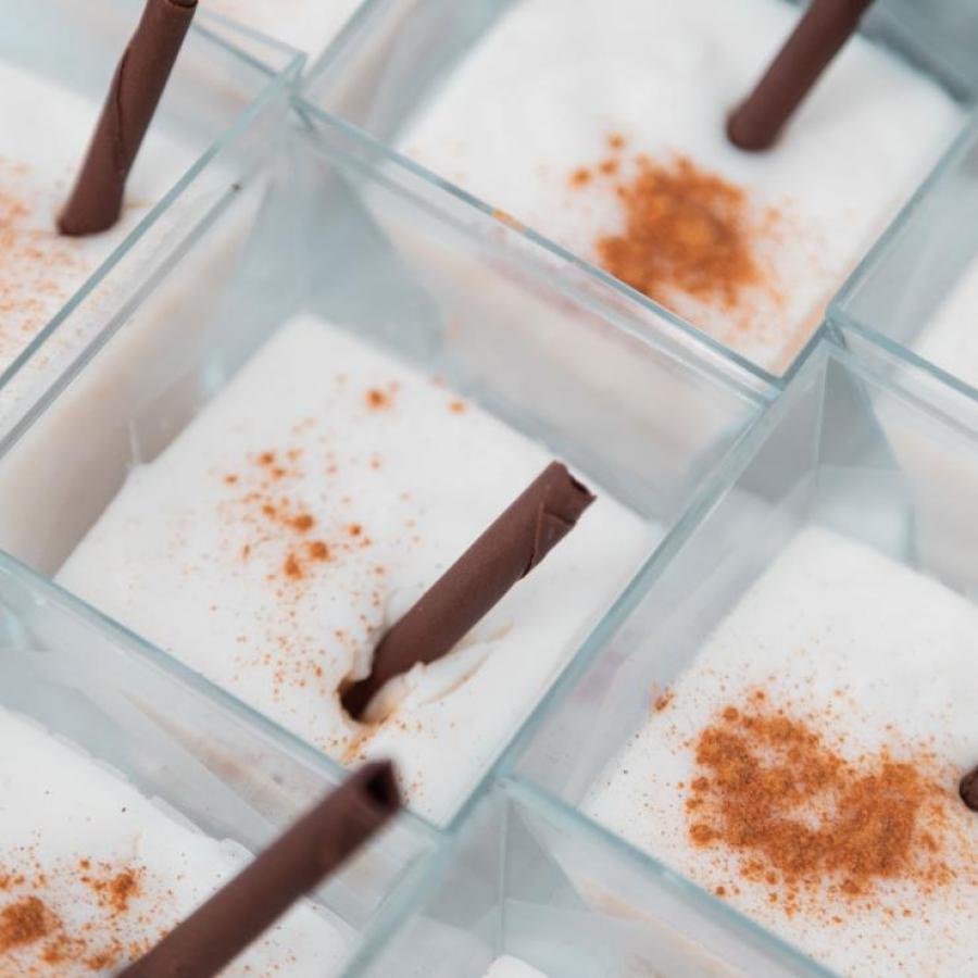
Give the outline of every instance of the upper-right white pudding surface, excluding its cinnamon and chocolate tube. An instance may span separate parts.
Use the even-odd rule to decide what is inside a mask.
[[[856,37],[773,150],[735,149],[725,136],[731,103],[798,13],[783,0],[522,0],[400,146],[590,261],[595,241],[624,227],[615,188],[638,154],[663,164],[688,156],[743,188],[758,223],[773,228],[756,236],[770,288],[734,310],[678,291],[666,304],[781,371],[963,118],[933,82]],[[572,186],[576,168],[609,156],[612,135],[625,141],[619,175]]]

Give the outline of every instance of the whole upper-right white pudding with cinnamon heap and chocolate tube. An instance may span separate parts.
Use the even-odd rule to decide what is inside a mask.
[[[523,0],[399,146],[780,373],[963,121],[867,5]]]

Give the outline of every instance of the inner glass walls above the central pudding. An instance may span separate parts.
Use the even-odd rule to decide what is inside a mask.
[[[222,206],[156,255],[0,448],[0,548],[41,574],[129,468],[300,313],[439,376],[654,524],[656,540],[769,402],[749,372],[668,328],[630,328],[576,269],[513,248],[504,227],[312,106],[297,110],[259,203],[246,191]]]

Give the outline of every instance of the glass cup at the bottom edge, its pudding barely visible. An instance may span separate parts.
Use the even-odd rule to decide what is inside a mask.
[[[351,978],[482,978],[500,957],[550,978],[828,975],[517,781],[484,795],[417,898],[378,926]]]

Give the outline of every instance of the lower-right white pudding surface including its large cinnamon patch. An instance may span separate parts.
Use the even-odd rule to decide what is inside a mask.
[[[830,967],[966,971],[976,626],[936,581],[805,529],[585,807]]]

